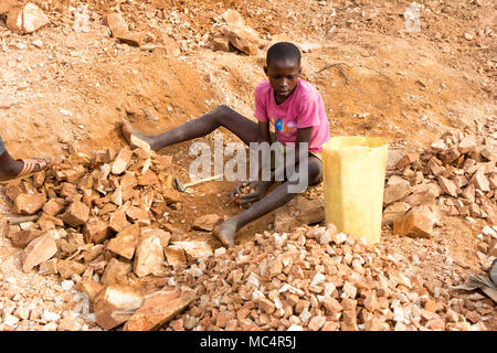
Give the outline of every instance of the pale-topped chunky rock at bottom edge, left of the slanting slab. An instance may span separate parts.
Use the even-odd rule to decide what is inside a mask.
[[[131,318],[142,302],[144,297],[129,287],[107,286],[93,302],[96,323],[104,330],[114,329]]]

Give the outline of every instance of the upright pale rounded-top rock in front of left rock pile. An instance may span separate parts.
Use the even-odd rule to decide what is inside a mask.
[[[163,248],[160,238],[154,233],[144,235],[137,246],[134,272],[138,277],[159,276],[163,270]]]

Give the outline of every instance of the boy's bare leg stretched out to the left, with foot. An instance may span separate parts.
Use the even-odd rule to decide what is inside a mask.
[[[148,142],[155,151],[161,148],[211,133],[219,127],[224,127],[236,135],[245,145],[257,141],[257,124],[226,106],[190,120],[179,127],[157,136],[147,136],[135,129],[129,121],[123,119],[123,135],[130,141],[131,135]]]

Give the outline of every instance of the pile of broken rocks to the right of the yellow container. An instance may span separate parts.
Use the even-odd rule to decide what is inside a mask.
[[[416,237],[430,237],[438,212],[496,224],[496,138],[448,131],[423,152],[401,157],[388,173],[383,222]]]

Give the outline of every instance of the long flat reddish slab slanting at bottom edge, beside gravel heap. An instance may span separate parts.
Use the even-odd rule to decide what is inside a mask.
[[[187,287],[172,291],[157,291],[148,296],[142,306],[126,322],[125,331],[150,331],[162,327],[195,299]]]

